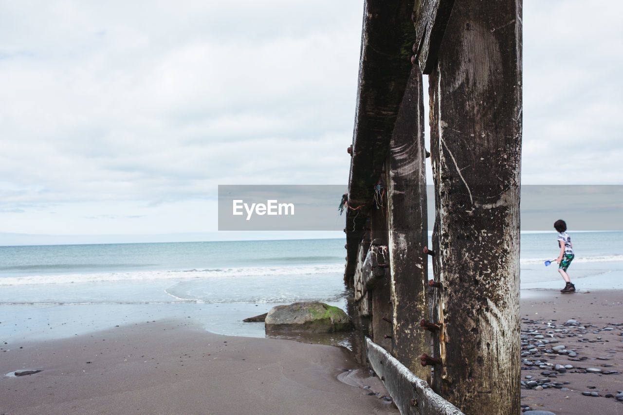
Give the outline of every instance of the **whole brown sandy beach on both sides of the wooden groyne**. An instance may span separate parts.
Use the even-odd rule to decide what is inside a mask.
[[[521,389],[523,405],[557,415],[623,414],[614,398],[623,390],[622,294],[523,293],[521,376],[526,384],[542,379]],[[192,318],[1,346],[2,414],[398,413],[345,348],[217,335]],[[567,351],[548,353],[554,346]],[[14,376],[21,370],[40,372]],[[598,396],[583,394],[591,392]]]

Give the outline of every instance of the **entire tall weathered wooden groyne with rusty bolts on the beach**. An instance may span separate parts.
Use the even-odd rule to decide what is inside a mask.
[[[427,408],[520,411],[521,108],[521,0],[366,1],[345,282],[371,366],[382,348],[438,395]]]

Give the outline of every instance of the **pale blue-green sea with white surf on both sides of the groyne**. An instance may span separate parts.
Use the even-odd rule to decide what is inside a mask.
[[[623,232],[569,232],[578,292],[623,290]],[[521,234],[521,295],[564,287],[556,232]],[[188,318],[224,335],[275,305],[346,309],[345,239],[0,246],[0,341],[83,335]],[[432,265],[429,263],[429,275]],[[551,293],[551,292],[549,292]]]

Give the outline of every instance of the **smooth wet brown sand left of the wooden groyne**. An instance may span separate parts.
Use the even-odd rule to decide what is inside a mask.
[[[7,415],[398,413],[378,378],[348,371],[359,368],[348,350],[216,335],[180,320],[5,344],[0,357]],[[12,376],[18,370],[41,371]]]

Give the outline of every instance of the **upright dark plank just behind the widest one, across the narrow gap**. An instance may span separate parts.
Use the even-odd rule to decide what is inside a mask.
[[[402,98],[388,155],[388,229],[391,301],[394,316],[392,353],[422,379],[430,369],[419,356],[430,354],[430,335],[419,321],[428,320],[428,239],[426,148],[422,72],[413,65]]]

